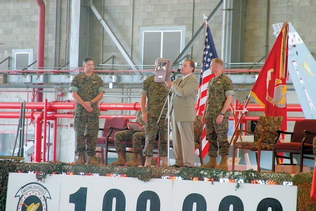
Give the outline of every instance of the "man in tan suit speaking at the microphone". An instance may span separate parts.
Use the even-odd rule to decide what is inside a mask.
[[[194,167],[194,128],[195,98],[198,93],[198,79],[193,74],[194,61],[185,60],[181,73],[174,82],[165,82],[172,92],[171,129],[174,158],[174,167]]]

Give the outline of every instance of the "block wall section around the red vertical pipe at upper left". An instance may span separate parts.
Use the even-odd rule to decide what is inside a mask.
[[[64,64],[62,55],[67,38],[68,0],[44,1],[45,21],[45,67],[53,68],[58,63]],[[1,0],[0,6],[0,61],[12,56],[12,49],[32,48],[33,61],[37,59],[38,5],[33,0]],[[57,9],[56,9],[57,8]],[[57,53],[56,53],[57,50]],[[67,52],[67,49],[66,49]],[[67,54],[65,54],[67,55]],[[60,61],[61,60],[61,61]],[[63,58],[69,60],[69,58]],[[33,62],[30,61],[30,62]],[[12,65],[13,66],[13,65]],[[33,65],[37,68],[37,64]],[[7,69],[7,62],[0,64],[0,69]]]

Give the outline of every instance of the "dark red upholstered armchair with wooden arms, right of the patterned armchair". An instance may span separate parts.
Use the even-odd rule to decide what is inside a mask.
[[[316,136],[316,119],[297,120],[293,132],[278,130],[279,134],[291,134],[290,142],[278,142],[273,147],[272,171],[275,171],[275,162],[277,157],[291,160],[293,164],[293,155],[300,154],[300,172],[303,171],[303,160],[315,159],[313,138]],[[290,155],[281,155],[278,152],[289,152]]]

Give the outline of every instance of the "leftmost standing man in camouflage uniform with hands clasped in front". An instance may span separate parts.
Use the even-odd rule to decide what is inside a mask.
[[[84,164],[85,152],[88,155],[87,164],[98,164],[95,156],[95,147],[99,130],[100,110],[98,101],[105,92],[104,82],[101,77],[93,73],[94,62],[90,57],[85,57],[82,64],[84,71],[77,74],[69,90],[76,100],[74,108],[75,139],[77,142],[77,160],[75,164]],[[84,146],[84,131],[87,128],[87,149]]]

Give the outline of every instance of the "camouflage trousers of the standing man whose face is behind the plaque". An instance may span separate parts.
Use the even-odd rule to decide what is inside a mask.
[[[151,157],[153,155],[154,141],[157,137],[157,132],[159,135],[160,145],[159,153],[160,156],[167,156],[167,141],[168,141],[168,124],[164,118],[160,118],[158,126],[156,126],[158,118],[149,119],[145,124],[145,146],[144,146],[144,156]]]

